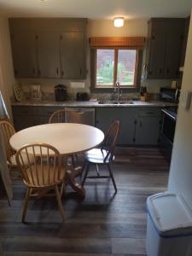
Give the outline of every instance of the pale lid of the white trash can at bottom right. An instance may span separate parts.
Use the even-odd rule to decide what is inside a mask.
[[[151,195],[147,209],[160,236],[192,235],[192,212],[182,195],[168,192]]]

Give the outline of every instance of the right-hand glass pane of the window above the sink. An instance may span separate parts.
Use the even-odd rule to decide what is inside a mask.
[[[136,56],[136,49],[119,49],[117,81],[120,85],[134,84]]]

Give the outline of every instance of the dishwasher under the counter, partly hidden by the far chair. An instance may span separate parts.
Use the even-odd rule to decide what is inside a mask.
[[[65,108],[82,113],[81,124],[95,126],[95,108]],[[67,121],[67,117],[66,117]]]

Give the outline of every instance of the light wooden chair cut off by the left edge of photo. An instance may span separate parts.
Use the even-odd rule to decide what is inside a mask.
[[[11,148],[9,144],[10,137],[15,134],[15,128],[8,120],[0,120],[0,130],[3,133],[3,142],[9,166],[9,174],[10,177],[13,178],[12,171],[19,171],[15,160],[15,150]]]

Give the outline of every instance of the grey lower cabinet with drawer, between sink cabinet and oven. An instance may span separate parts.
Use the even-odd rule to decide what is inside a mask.
[[[160,108],[137,110],[136,145],[157,145],[160,139]]]

